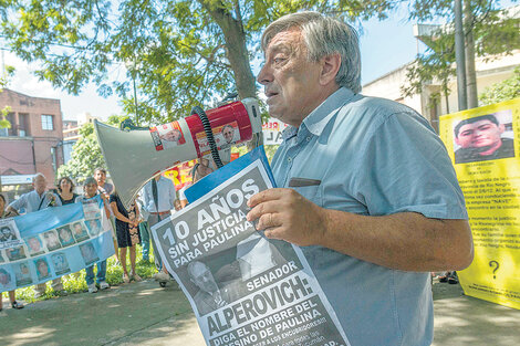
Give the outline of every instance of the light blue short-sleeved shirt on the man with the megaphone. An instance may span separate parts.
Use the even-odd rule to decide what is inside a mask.
[[[277,185],[321,180],[294,188],[320,207],[467,219],[444,144],[404,105],[343,87],[299,128],[288,127],[283,139],[272,161]],[[431,344],[429,273],[391,270],[322,247],[301,249],[353,346]]]

